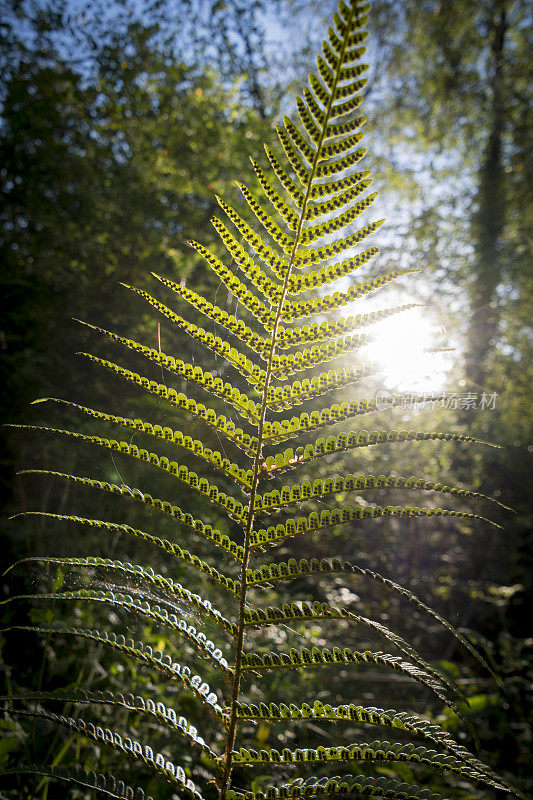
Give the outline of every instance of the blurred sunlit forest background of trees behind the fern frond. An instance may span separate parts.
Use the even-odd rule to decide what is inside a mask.
[[[158,330],[155,312],[119,285],[136,285],[172,305],[151,272],[214,296],[235,313],[231,296],[200,265],[186,239],[194,236],[218,248],[209,223],[216,210],[214,193],[240,204],[232,182],[249,177],[249,156],[261,157],[262,142],[272,140],[272,124],[292,112],[295,91],[312,68],[333,4],[4,0],[0,5],[3,421],[94,430],[68,409],[30,405],[37,397],[63,397],[182,427],[183,421],[173,421],[155,399],[128,392],[118,380],[104,378],[76,358],[77,351],[89,350],[114,359],[116,350],[73,318],[150,346],[160,341],[163,350],[181,355],[183,339],[170,323],[162,321]],[[501,530],[451,521],[373,520],[360,529],[343,526],[333,537],[335,554],[397,580],[454,625],[471,631],[503,685],[479,674],[445,632],[402,603],[386,601],[363,579],[339,578],[333,589],[302,579],[297,587],[302,599],[361,602],[410,641],[418,641],[472,699],[470,718],[484,757],[526,790],[533,788],[530,12],[521,0],[373,3],[365,169],[373,170],[380,190],[373,218],[385,215],[387,225],[374,237],[382,252],[370,271],[395,266],[420,270],[386,298],[385,290],[380,305],[398,300],[424,304],[425,318],[445,329],[438,345],[454,348],[438,388],[459,399],[383,411],[364,424],[467,432],[502,449],[390,445],[360,450],[345,464],[346,471],[393,470],[469,486],[499,498],[514,513],[490,505],[480,512],[502,524]],[[201,363],[202,353],[192,347],[191,360]],[[410,389],[408,377],[396,384],[384,380],[358,390],[358,396],[371,397],[383,385],[392,392]],[[475,395],[475,407],[464,399],[467,393]],[[488,407],[482,396],[493,398]],[[205,439],[199,426],[185,424],[187,432]],[[33,466],[61,469],[123,481],[154,496],[170,499],[172,492],[172,501],[182,506],[189,502],[180,498],[179,487],[170,489],[149,467],[113,459],[90,446],[74,448],[65,440],[6,430],[0,455],[6,517],[34,509],[76,513],[154,533],[157,527],[175,538],[171,521],[132,505],[125,508],[113,497],[98,498],[95,512],[94,493],[15,474]],[[207,517],[199,501],[195,511]],[[217,521],[221,529],[225,524]],[[15,519],[5,522],[2,536],[6,566],[35,553],[98,553],[151,560],[154,568],[168,569],[140,544],[75,525]],[[212,555],[202,543],[195,542],[195,549]],[[292,552],[298,550],[305,557],[331,554],[320,537],[296,540]],[[76,580],[55,577],[64,579]],[[50,585],[46,571],[19,568],[9,591],[27,586],[28,580]],[[276,593],[263,597],[272,602]],[[35,603],[31,618],[50,620],[56,612]],[[8,607],[7,624],[23,613],[19,606]],[[109,619],[109,611],[106,617],[98,609],[69,613],[87,626],[102,613]],[[176,646],[163,632],[137,624],[159,647]],[[290,645],[290,635],[284,646]],[[319,630],[310,630],[309,636],[320,642]],[[345,641],[346,632],[339,636]],[[353,642],[358,649],[365,644]],[[109,675],[117,690],[126,683],[161,688],[101,649],[72,641],[65,645],[66,640],[38,642],[31,634],[10,634],[3,671],[7,685],[105,688],[102,681]],[[341,677],[354,701],[418,711],[430,707],[450,729],[457,727],[449,710],[428,706],[428,698],[408,684],[386,685],[371,674],[363,681]],[[305,699],[311,682],[318,680],[312,674],[298,680],[276,677],[272,687],[276,694],[290,690]],[[253,686],[249,692],[253,697]],[[25,734],[9,715],[1,724],[0,766],[21,749],[31,761],[48,757],[69,763],[76,747],[85,764],[94,758],[87,743],[80,755],[79,745],[68,736],[47,737],[39,726]],[[272,745],[290,740],[292,733],[262,725],[244,735],[252,744]],[[330,733],[317,726],[309,735],[316,740]],[[461,735],[468,743],[468,734]],[[114,763],[113,756],[104,758]],[[409,778],[405,766],[398,771]],[[431,776],[426,780],[439,788]],[[148,788],[156,800],[168,796],[156,782]],[[26,791],[20,786],[6,791],[9,797],[26,796],[16,793]],[[38,781],[27,791],[28,797],[64,796],[61,787]],[[472,794],[460,783],[452,791],[451,796],[465,800],[488,796]]]

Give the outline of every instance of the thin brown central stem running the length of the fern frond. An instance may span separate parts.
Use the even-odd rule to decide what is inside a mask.
[[[250,535],[253,528],[253,521],[254,521],[254,504],[255,504],[255,496],[257,494],[257,487],[259,484],[260,478],[260,465],[263,461],[262,449],[263,449],[263,429],[266,419],[266,413],[268,410],[267,405],[267,397],[268,397],[268,389],[270,386],[270,381],[272,378],[272,371],[273,371],[273,362],[274,362],[274,355],[276,351],[276,337],[277,332],[281,320],[281,313],[283,310],[283,304],[285,302],[285,298],[288,293],[289,288],[289,281],[292,274],[292,270],[294,267],[294,262],[296,258],[296,253],[298,251],[298,247],[300,244],[300,236],[302,233],[303,224],[305,222],[305,216],[307,212],[307,206],[309,204],[311,190],[313,186],[313,181],[316,177],[316,171],[319,164],[322,146],[324,143],[324,139],[326,138],[326,131],[329,124],[329,119],[331,118],[331,110],[333,107],[333,101],[335,98],[335,92],[337,89],[337,85],[339,83],[339,76],[342,70],[342,63],[344,61],[344,54],[346,52],[347,41],[350,37],[350,31],[352,22],[354,19],[354,15],[357,13],[356,8],[352,7],[350,9],[350,16],[349,19],[346,21],[346,30],[342,40],[342,48],[339,54],[338,64],[335,71],[335,81],[331,88],[328,105],[325,110],[324,122],[320,131],[320,138],[317,143],[315,157],[313,159],[313,164],[311,167],[311,173],[309,176],[309,181],[307,183],[307,188],[305,192],[304,201],[302,204],[301,212],[300,212],[300,219],[298,221],[298,228],[295,232],[294,244],[292,247],[292,251],[290,254],[290,259],[287,267],[287,273],[285,275],[285,280],[283,282],[283,288],[281,292],[281,297],[278,303],[276,317],[274,320],[274,325],[271,332],[271,346],[270,351],[268,354],[268,362],[266,368],[266,376],[265,376],[265,384],[263,387],[263,396],[261,398],[261,411],[259,417],[259,424],[257,427],[257,452],[254,458],[253,464],[253,477],[252,477],[252,484],[251,484],[251,491],[250,491],[250,502],[248,505],[248,519],[245,528],[244,534],[244,555],[242,560],[242,568],[241,568],[241,588],[240,588],[240,595],[239,595],[239,617],[238,617],[238,631],[237,637],[235,640],[235,672],[234,672],[234,680],[233,680],[233,687],[232,687],[232,694],[230,700],[230,719],[228,723],[228,733],[226,738],[226,750],[224,754],[224,773],[222,776],[222,783],[220,789],[220,800],[226,800],[226,794],[230,788],[230,781],[231,781],[231,772],[232,772],[232,751],[235,744],[235,736],[237,733],[237,702],[239,699],[240,693],[240,680],[242,675],[242,652],[244,646],[244,636],[245,636],[245,618],[244,618],[244,611],[246,607],[246,595],[247,595],[247,585],[246,585],[246,570],[248,568],[248,562],[250,559],[251,553],[251,543],[250,543]]]

